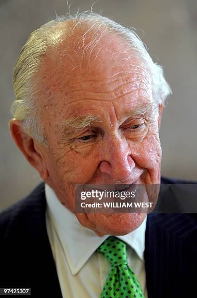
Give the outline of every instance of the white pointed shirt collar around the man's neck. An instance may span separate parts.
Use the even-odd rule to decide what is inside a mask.
[[[61,204],[48,184],[45,184],[45,196],[49,219],[61,242],[71,273],[75,275],[109,235],[99,237],[94,231],[82,226],[75,214]],[[131,246],[142,261],[146,218],[135,231],[125,236],[116,236]]]

